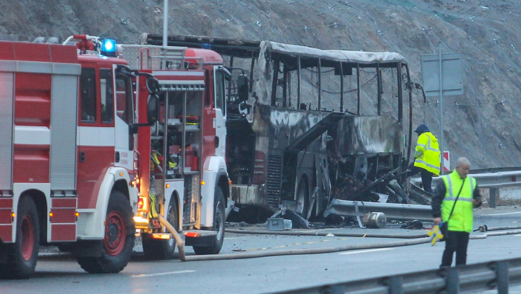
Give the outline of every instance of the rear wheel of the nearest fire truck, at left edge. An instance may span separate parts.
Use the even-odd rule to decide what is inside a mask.
[[[16,240],[6,244],[7,264],[1,276],[10,279],[27,279],[34,273],[40,249],[40,225],[34,201],[22,197],[18,202],[16,218]]]

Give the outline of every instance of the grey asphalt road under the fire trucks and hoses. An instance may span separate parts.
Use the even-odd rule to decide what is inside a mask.
[[[517,207],[477,211],[475,227],[516,226],[521,220]],[[261,229],[261,227],[256,227]],[[299,231],[299,230],[292,230]],[[310,230],[307,230],[310,231]],[[315,231],[315,230],[314,230]],[[388,235],[418,235],[421,230],[400,228],[336,228],[316,231],[369,232]],[[477,236],[481,232],[474,232]],[[222,254],[334,248],[350,244],[396,242],[396,238],[337,236],[276,236],[227,234]],[[521,258],[521,234],[473,239],[468,263]],[[41,255],[36,273],[29,280],[0,280],[0,293],[269,293],[433,269],[439,266],[444,243],[343,251],[325,254],[271,256],[265,258],[180,262],[145,261],[137,246],[133,261],[119,274],[92,275],[83,272],[68,255]],[[240,251],[237,251],[240,250]],[[193,254],[186,248],[187,254]],[[519,287],[512,287],[511,292]],[[492,291],[493,292],[493,291]],[[519,291],[521,292],[521,291]]]

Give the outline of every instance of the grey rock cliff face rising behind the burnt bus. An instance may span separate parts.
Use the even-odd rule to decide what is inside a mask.
[[[465,94],[443,101],[446,150],[473,168],[521,166],[521,4],[517,0],[169,1],[169,32],[272,41],[324,49],[395,51],[422,83],[420,55],[463,54]],[[161,33],[163,1],[0,2],[0,35],[66,38],[88,33],[137,43]],[[12,37],[11,37],[12,38]],[[438,137],[437,97],[415,93],[413,125]],[[416,138],[413,138],[413,141]]]

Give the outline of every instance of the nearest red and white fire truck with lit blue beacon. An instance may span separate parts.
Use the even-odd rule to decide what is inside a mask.
[[[139,176],[133,84],[154,79],[136,79],[111,40],[74,35],[64,44],[72,40],[0,42],[2,277],[30,277],[46,244],[71,251],[89,273],[117,273],[130,260]]]

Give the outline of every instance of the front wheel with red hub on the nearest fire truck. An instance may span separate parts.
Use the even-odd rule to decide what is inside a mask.
[[[134,247],[135,225],[129,200],[112,191],[105,219],[105,238],[99,257],[79,257],[78,263],[91,274],[119,273],[130,261]]]

